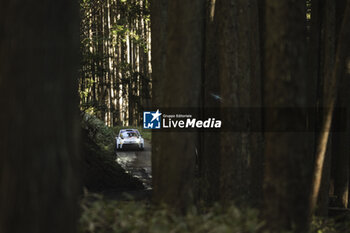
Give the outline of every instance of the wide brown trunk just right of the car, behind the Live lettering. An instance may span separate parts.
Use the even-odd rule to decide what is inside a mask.
[[[152,46],[155,51],[153,67],[160,66],[159,70],[153,71],[156,81],[154,83],[156,103],[159,107],[167,108],[199,107],[203,1],[181,3],[168,1],[166,34],[163,34],[164,26],[160,21],[165,11],[163,7],[166,6],[166,2],[164,5],[162,3],[164,2],[161,0],[152,2],[154,14],[152,27],[155,28],[152,43],[159,42],[161,38],[166,39],[166,44],[158,48],[159,50],[156,47],[162,44]],[[166,51],[165,68],[161,61],[164,51]],[[193,198],[197,134],[156,132],[152,140],[154,199],[185,209]],[[169,144],[169,141],[172,143]]]

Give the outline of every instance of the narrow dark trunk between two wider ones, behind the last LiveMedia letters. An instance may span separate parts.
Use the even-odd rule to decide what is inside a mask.
[[[202,102],[202,116],[206,114],[208,108],[220,107],[220,83],[217,79],[218,67],[218,49],[217,49],[217,25],[216,25],[216,1],[207,1],[205,18],[205,54],[204,54],[204,79]],[[200,134],[200,184],[198,190],[198,199],[208,203],[219,200],[220,187],[220,159],[217,152],[220,148],[220,137],[218,133],[203,132]]]

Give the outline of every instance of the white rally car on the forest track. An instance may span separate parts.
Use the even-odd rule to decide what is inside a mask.
[[[137,129],[121,129],[115,139],[117,150],[135,147],[139,150],[144,149],[144,139]]]

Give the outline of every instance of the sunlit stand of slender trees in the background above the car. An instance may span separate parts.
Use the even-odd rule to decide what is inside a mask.
[[[151,104],[149,5],[81,1],[80,106],[108,126],[139,125]]]

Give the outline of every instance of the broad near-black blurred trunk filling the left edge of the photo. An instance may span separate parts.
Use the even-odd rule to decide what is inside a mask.
[[[0,2],[0,232],[76,232],[78,2]]]

